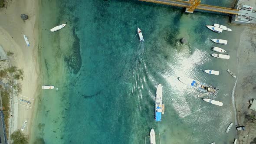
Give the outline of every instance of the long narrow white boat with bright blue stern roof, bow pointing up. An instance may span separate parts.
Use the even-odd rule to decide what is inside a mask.
[[[162,115],[162,97],[163,97],[163,88],[161,84],[158,84],[157,93],[156,93],[156,103],[155,103],[155,120],[161,121]]]

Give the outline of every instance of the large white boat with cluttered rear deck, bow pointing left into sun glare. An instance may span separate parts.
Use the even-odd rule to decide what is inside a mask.
[[[194,79],[190,79],[190,78],[186,78],[186,77],[179,77],[178,79],[179,79],[179,81],[181,81],[182,83],[184,83],[186,85],[190,85],[193,88],[196,88],[203,92],[207,92],[212,95],[216,95],[217,90],[219,90],[218,88],[204,84],[204,83],[196,81]]]

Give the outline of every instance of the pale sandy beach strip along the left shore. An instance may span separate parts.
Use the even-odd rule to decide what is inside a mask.
[[[20,15],[24,13],[29,19],[24,21]],[[23,81],[18,83],[22,85],[22,92],[13,97],[13,111],[10,121],[10,131],[16,131],[21,128],[23,122],[28,120],[28,124],[24,130],[26,135],[30,133],[30,125],[32,123],[32,114],[34,108],[27,108],[18,105],[20,95],[36,99],[36,88],[38,88],[38,26],[37,26],[38,1],[34,0],[13,0],[7,8],[0,10],[0,45],[5,52],[13,52],[13,56],[9,56],[11,65],[24,71]],[[29,39],[30,46],[26,46],[23,34]],[[32,107],[34,101],[31,101]],[[10,136],[10,135],[9,135]]]

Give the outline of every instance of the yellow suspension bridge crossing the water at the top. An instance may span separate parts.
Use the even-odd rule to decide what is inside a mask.
[[[219,13],[228,13],[228,14],[238,14],[238,10],[226,8],[226,7],[217,7],[217,6],[209,6],[206,4],[200,4],[200,0],[139,0],[146,1],[151,3],[160,3],[177,7],[185,7],[188,12],[193,12],[195,9],[198,10],[208,10]]]

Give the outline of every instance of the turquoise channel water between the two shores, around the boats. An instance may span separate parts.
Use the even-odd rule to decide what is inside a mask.
[[[39,93],[30,143],[144,144],[151,128],[161,135],[161,144],[233,141],[235,129],[228,134],[225,130],[235,122],[231,97],[236,79],[226,69],[236,73],[242,28],[229,25],[229,17],[186,14],[179,8],[125,0],[41,1],[40,5],[40,82],[58,90]],[[67,26],[49,31],[61,23]],[[205,27],[213,23],[233,31],[213,33]],[[179,43],[182,37],[187,44]],[[213,38],[229,43],[213,44]],[[230,60],[211,57],[212,46],[225,49]],[[220,75],[208,75],[204,69],[218,70]],[[197,98],[200,92],[179,82],[180,76],[219,88],[211,98],[223,101],[223,107]],[[164,91],[161,122],[154,121],[158,83]]]

